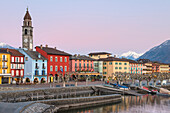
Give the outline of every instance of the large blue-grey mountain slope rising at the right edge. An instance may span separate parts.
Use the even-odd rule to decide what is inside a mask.
[[[151,61],[159,61],[162,63],[170,63],[170,40],[153,47],[139,59],[150,59]]]

